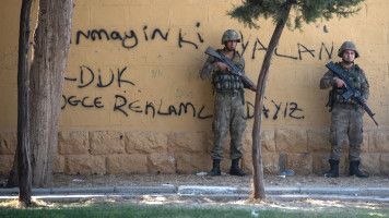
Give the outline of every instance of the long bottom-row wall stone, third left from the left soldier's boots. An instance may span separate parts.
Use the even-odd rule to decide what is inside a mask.
[[[148,172],[148,156],[142,154],[109,155],[107,172],[110,174]]]

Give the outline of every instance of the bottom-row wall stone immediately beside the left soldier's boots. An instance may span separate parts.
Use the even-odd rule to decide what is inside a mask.
[[[178,173],[208,172],[212,168],[212,160],[208,155],[184,153],[176,154],[175,158]],[[227,161],[222,162],[227,164]]]

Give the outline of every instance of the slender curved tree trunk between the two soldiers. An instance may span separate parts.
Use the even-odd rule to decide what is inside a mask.
[[[287,16],[291,11],[291,5],[286,4],[286,9],[284,11],[283,21],[279,22],[275,26],[273,35],[268,46],[267,53],[264,56],[262,68],[258,77],[258,86],[256,93],[256,102],[255,102],[255,119],[254,119],[254,128],[252,128],[252,167],[254,167],[254,192],[252,197],[255,199],[264,199],[264,185],[263,185],[263,166],[262,166],[262,154],[261,154],[261,121],[262,121],[262,108],[263,108],[263,96],[266,83],[269,75],[269,69],[271,63],[271,58],[274,53],[274,49],[276,48],[282,31],[287,21]]]

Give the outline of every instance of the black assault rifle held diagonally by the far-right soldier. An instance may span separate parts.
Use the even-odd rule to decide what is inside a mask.
[[[328,69],[330,69],[334,74],[337,74],[344,83],[345,83],[345,88],[347,92],[345,92],[342,96],[344,99],[349,99],[350,97],[354,96],[357,102],[362,106],[362,108],[367,112],[368,116],[373,119],[373,121],[376,123],[378,126],[377,121],[373,118],[376,113],[373,113],[372,110],[367,107],[367,105],[364,102],[364,99],[359,95],[359,93],[354,88],[353,84],[349,80],[347,76],[344,76],[337,65],[331,61],[326,64]]]

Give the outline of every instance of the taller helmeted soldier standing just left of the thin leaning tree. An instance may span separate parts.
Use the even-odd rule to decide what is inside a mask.
[[[222,37],[223,49],[216,52],[229,58],[243,72],[245,69],[245,59],[235,50],[237,43],[240,43],[238,34],[228,29]],[[213,168],[209,175],[220,175],[220,161],[223,159],[223,144],[226,134],[231,134],[229,157],[232,166],[229,174],[247,175],[239,168],[239,159],[243,157],[241,137],[246,129],[246,118],[244,114],[244,88],[256,90],[257,86],[244,87],[239,76],[228,73],[228,66],[210,56],[200,71],[200,77],[207,80],[212,76],[214,99],[214,121],[212,130],[214,133],[214,144],[211,150]]]

